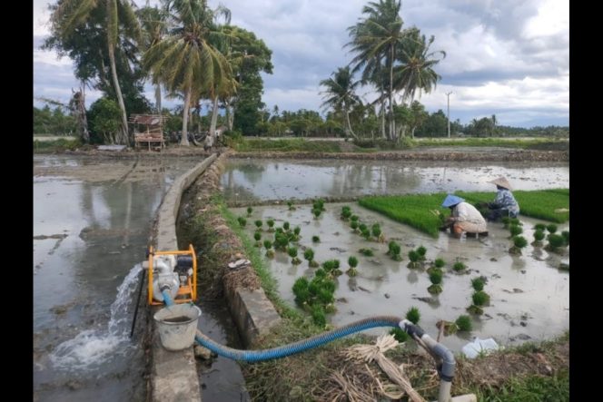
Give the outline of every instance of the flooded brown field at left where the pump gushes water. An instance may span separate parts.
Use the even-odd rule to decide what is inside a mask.
[[[35,157],[35,400],[145,400],[137,263],[164,192],[196,162]]]

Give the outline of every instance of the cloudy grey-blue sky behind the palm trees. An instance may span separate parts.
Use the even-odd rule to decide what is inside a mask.
[[[78,86],[71,61],[39,50],[49,32],[48,3],[34,0],[34,95],[66,101]],[[212,7],[230,8],[232,24],[272,49],[274,70],[264,75],[262,100],[289,111],[320,110],[319,82],[351,61],[342,48],[350,41],[346,28],[367,3],[209,0]],[[569,124],[568,0],[404,0],[401,16],[405,27],[435,35],[431,50],[447,53],[436,68],[442,76],[436,90],[420,97],[430,112],[446,112],[446,93],[452,92],[450,120],[496,114],[504,125]],[[88,103],[99,95],[89,91]],[[150,87],[146,95],[153,99]]]

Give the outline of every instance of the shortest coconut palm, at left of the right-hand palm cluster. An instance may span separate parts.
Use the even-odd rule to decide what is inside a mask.
[[[341,111],[345,115],[346,136],[351,135],[358,138],[351,131],[350,109],[352,105],[361,103],[360,97],[354,93],[360,82],[353,81],[349,66],[340,67],[331,75],[332,78],[321,81],[321,85],[326,88],[323,92],[326,100],[322,103],[322,107],[331,107],[335,111]]]

